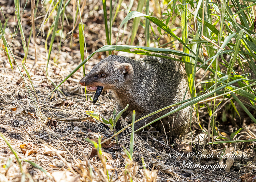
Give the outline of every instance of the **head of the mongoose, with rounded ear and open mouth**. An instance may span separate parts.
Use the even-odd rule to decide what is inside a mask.
[[[133,77],[133,68],[127,59],[125,56],[111,55],[101,60],[80,80],[80,84],[91,92],[96,91],[97,86],[102,86],[103,90],[123,88]]]

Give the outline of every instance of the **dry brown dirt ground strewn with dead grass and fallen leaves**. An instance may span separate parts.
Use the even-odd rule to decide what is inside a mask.
[[[17,27],[17,21],[13,23],[14,4],[1,0],[0,5],[5,17],[8,18],[8,26],[12,36],[14,36],[14,27],[15,29]],[[86,2],[84,22],[86,22],[85,34],[88,54],[106,44],[101,6],[102,4],[97,1]],[[72,5],[68,8],[72,9]],[[44,8],[40,7],[38,16],[44,15],[44,11]],[[1,13],[0,15],[1,22],[3,23],[4,18]],[[122,22],[124,16],[124,12],[121,12],[117,16],[116,22]],[[29,36],[31,27],[29,17],[30,9],[28,8],[25,9],[23,15],[26,37]],[[42,18],[39,20],[41,21]],[[131,24],[131,22],[129,23]],[[125,44],[126,42],[131,26],[129,23],[125,38],[120,44]],[[40,25],[40,22],[38,22],[38,26]],[[72,25],[68,26],[66,24],[65,27],[67,27],[64,29],[66,34],[72,30]],[[117,28],[118,24],[114,24],[114,35],[118,32]],[[140,34],[143,34],[143,29],[139,28],[138,31],[137,42],[135,43],[144,45],[140,41]],[[47,28],[45,28],[44,32],[45,35],[41,32],[37,38],[38,62],[30,72],[39,98],[42,115],[50,119],[52,117],[64,120],[83,117],[87,117],[87,119],[82,122],[70,122],[54,119],[42,120],[37,117],[32,103],[32,95],[35,98],[35,94],[31,89],[28,79],[26,78],[32,95],[29,94],[24,82],[21,83],[23,79],[17,65],[14,65],[12,71],[6,53],[0,51],[0,132],[3,135],[0,138],[0,182],[18,182],[24,178],[25,181],[36,182],[60,182],[61,180],[74,182],[80,180],[114,182],[131,181],[131,179],[132,181],[146,182],[256,181],[255,142],[233,143],[229,145],[218,144],[213,145],[211,148],[209,145],[206,145],[208,142],[207,134],[202,132],[202,129],[196,122],[192,123],[191,132],[187,131],[184,140],[174,140],[174,142],[166,139],[164,134],[154,131],[154,128],[146,128],[139,135],[136,135],[133,161],[128,159],[124,151],[124,148],[129,150],[130,146],[129,136],[124,135],[118,136],[118,144],[114,139],[111,140],[111,143],[103,144],[103,157],[98,156],[96,149],[86,139],[97,142],[100,137],[101,141],[103,141],[112,136],[113,133],[100,126],[99,121],[96,119],[90,118],[86,111],[94,111],[108,119],[113,116],[115,100],[108,92],[101,94],[96,104],[93,104],[91,101],[94,93],[87,92],[86,100],[84,88],[79,84],[79,80],[83,77],[82,68],[60,87],[65,96],[58,91],[49,96],[55,87],[46,77],[47,54],[45,51],[45,37]],[[10,45],[12,36],[7,28],[5,33],[5,37]],[[68,36],[70,35],[67,35],[66,38]],[[59,84],[81,63],[78,36],[78,31],[75,30],[71,47],[69,39],[62,43],[60,50],[58,49],[59,37],[56,38],[48,65],[49,77],[56,84]],[[114,40],[116,40],[115,36]],[[161,37],[160,41],[162,44],[167,42],[164,36]],[[33,40],[31,42],[27,59],[29,69],[33,65],[35,56],[34,42]],[[2,48],[1,41],[0,45]],[[19,32],[17,32],[17,37],[15,37],[11,49],[19,68],[23,75],[26,76],[21,64],[24,52]],[[118,52],[118,55],[140,57],[121,52]],[[93,59],[86,63],[86,72],[88,73],[98,61],[105,57],[106,53],[95,54]],[[11,59],[14,64],[13,58]],[[200,108],[199,114],[202,121],[201,126],[203,129],[208,128],[209,117],[206,116],[208,114],[206,108]],[[222,114],[223,112],[217,118],[222,118]],[[228,122],[220,123],[219,125],[219,128],[223,128],[224,134],[225,132],[230,134],[240,128],[240,125],[234,124],[234,121],[229,121],[230,118],[228,116],[227,119]],[[255,124],[246,120],[242,124],[245,129],[236,135],[234,139],[256,139]],[[11,147],[8,146],[4,138]],[[230,165],[227,167],[230,171],[221,168],[214,169],[212,165],[216,166],[220,159],[217,154],[223,151],[225,147],[228,147],[232,153],[243,156],[223,159],[225,160],[224,164]],[[17,153],[11,151],[11,148]],[[199,155],[190,155],[193,152]],[[209,155],[209,157],[200,157],[200,152]],[[212,152],[213,155],[211,156]],[[105,158],[106,163],[103,160]],[[142,158],[144,162],[142,162]],[[208,167],[200,168],[200,166],[205,165],[208,165]],[[144,166],[146,169],[144,169]],[[22,175],[20,168],[26,174],[24,175],[25,177]]]

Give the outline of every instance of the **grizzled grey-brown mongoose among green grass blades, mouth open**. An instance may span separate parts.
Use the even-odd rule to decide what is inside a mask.
[[[117,111],[129,104],[122,117],[126,118],[135,110],[138,120],[163,107],[181,102],[187,89],[186,77],[185,69],[179,61],[154,56],[134,60],[126,56],[110,55],[97,63],[80,80],[80,84],[86,86],[88,91],[96,91],[97,86],[102,86],[103,90],[110,90],[116,98]],[[189,92],[185,96],[185,99],[188,98]],[[176,107],[135,123],[134,129],[139,129]],[[164,126],[169,136],[184,133],[189,124],[190,107],[181,110],[177,115],[178,112],[175,112],[164,117],[156,122],[157,126]]]

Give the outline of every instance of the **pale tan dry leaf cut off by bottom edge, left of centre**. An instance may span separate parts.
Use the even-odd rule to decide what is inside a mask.
[[[55,182],[81,182],[80,175],[74,175],[69,171],[55,171],[51,176]]]

